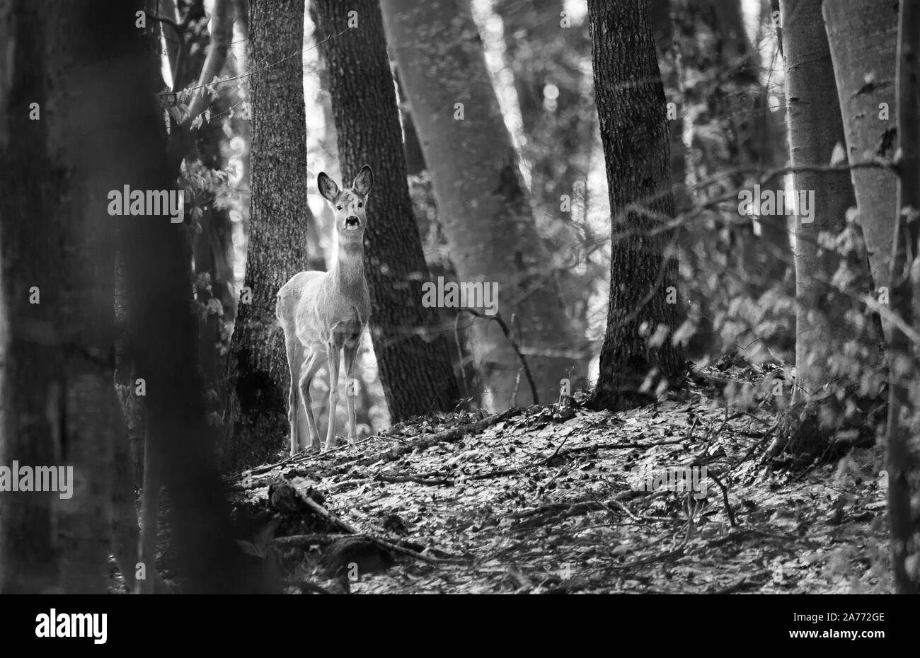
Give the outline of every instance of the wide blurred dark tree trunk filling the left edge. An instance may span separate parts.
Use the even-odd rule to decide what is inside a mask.
[[[4,593],[101,594],[108,584],[120,218],[107,213],[107,191],[121,189],[121,164],[137,156],[123,117],[139,104],[126,58],[140,37],[127,9],[0,4],[0,463],[73,468],[66,499],[0,494]]]

